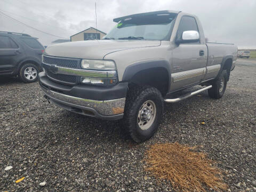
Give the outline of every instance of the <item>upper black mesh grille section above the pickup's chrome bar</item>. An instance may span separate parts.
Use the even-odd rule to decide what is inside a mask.
[[[53,58],[53,57],[43,57],[43,62],[46,64],[53,64],[59,67],[67,67],[67,68],[77,68],[78,59],[61,59],[61,58]]]

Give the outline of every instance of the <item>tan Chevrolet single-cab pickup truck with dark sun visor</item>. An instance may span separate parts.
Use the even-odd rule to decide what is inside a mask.
[[[211,98],[223,96],[237,46],[206,43],[195,15],[155,11],[113,21],[103,39],[46,48],[39,84],[48,101],[86,116],[121,119],[131,138],[142,142],[157,131],[163,102],[205,90]],[[172,97],[195,85],[202,87]]]

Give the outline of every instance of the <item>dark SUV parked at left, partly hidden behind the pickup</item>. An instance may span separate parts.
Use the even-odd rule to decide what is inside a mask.
[[[0,76],[19,76],[25,83],[37,81],[42,71],[44,46],[27,34],[0,31]]]

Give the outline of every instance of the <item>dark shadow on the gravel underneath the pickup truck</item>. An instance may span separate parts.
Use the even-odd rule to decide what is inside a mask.
[[[162,134],[161,129],[164,126],[168,126],[170,131],[177,132],[177,130],[173,129],[173,124],[178,125],[183,119],[190,118],[188,114],[191,113],[191,110],[200,111],[199,108],[202,102],[207,105],[211,101],[212,99],[205,92],[178,103],[165,103],[163,121],[158,131],[159,134]],[[197,109],[193,108],[195,105]],[[137,145],[124,131],[122,119],[119,121],[107,121],[71,113],[64,109],[61,109],[58,116],[58,119],[62,121],[60,125],[66,125],[62,128],[62,131],[66,132],[63,137],[67,137],[66,135],[72,133],[72,135],[76,135],[79,140],[85,143],[97,141],[98,145],[106,145],[106,143],[118,143],[118,145],[131,145],[133,143],[132,145]],[[55,126],[60,126],[58,125],[59,121],[54,121],[54,117],[52,119]]]

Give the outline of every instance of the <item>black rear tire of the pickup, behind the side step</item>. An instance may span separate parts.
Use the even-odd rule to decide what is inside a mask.
[[[221,81],[223,78],[223,85],[221,89]],[[212,88],[208,90],[210,98],[220,99],[222,98],[228,82],[228,74],[226,70],[222,70],[221,74],[211,82]],[[221,89],[221,90],[220,90]]]

